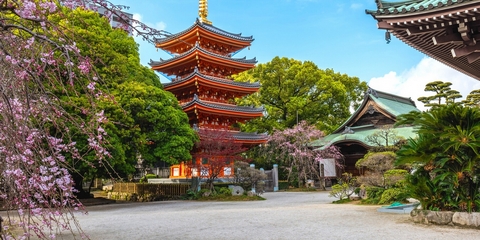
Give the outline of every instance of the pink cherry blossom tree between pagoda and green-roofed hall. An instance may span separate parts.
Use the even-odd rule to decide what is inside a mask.
[[[322,131],[302,121],[293,128],[275,130],[262,152],[287,170],[289,181],[296,177],[299,186],[302,186],[308,179],[321,180],[319,162],[323,159],[343,159],[343,155],[335,146],[320,150],[310,147],[313,140],[322,137],[324,137]],[[337,165],[340,166],[338,161]]]

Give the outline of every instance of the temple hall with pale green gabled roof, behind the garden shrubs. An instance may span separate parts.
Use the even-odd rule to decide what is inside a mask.
[[[361,173],[361,169],[355,167],[355,163],[368,152],[374,144],[367,141],[367,137],[388,129],[398,139],[416,137],[413,126],[397,126],[397,116],[411,111],[420,111],[415,102],[410,98],[381,92],[368,88],[362,104],[339,128],[323,139],[311,143],[315,148],[334,145],[340,149],[344,157],[344,168],[337,169],[337,177],[341,173],[348,172],[354,176]],[[383,139],[382,146],[392,145]],[[333,175],[331,175],[333,176]]]

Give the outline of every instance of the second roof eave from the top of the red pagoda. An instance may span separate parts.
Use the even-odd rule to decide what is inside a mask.
[[[247,68],[252,68],[257,63],[256,58],[252,58],[252,59],[246,59],[246,57],[230,58],[230,57],[227,57],[227,56],[223,56],[223,55],[220,55],[220,54],[209,52],[209,51],[201,48],[197,44],[197,45],[195,45],[194,48],[186,51],[183,54],[175,56],[173,58],[170,58],[170,59],[167,59],[167,60],[160,59],[160,61],[150,60],[149,65],[152,67],[152,69],[159,70],[162,67],[166,68],[168,66],[174,65],[174,64],[178,63],[178,61],[181,61],[181,59],[188,59],[188,58],[192,58],[192,57],[197,57],[198,56],[197,54],[205,54],[204,56],[214,58],[215,62],[222,62],[222,61],[225,62],[226,61],[226,62],[230,62],[232,65],[238,65],[239,67],[244,67],[246,69]]]

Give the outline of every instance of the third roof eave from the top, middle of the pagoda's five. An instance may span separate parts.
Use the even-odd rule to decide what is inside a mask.
[[[196,78],[197,77],[197,78]],[[180,88],[185,85],[189,85],[192,82],[194,82],[196,79],[198,79],[201,82],[206,82],[211,85],[216,85],[219,87],[224,87],[226,89],[233,89],[237,91],[242,91],[242,92],[248,92],[248,93],[253,93],[256,92],[260,88],[260,83],[255,82],[255,83],[245,83],[245,82],[236,82],[233,80],[227,80],[227,79],[222,79],[222,78],[216,78],[212,76],[207,76],[204,75],[200,72],[198,72],[196,69],[194,72],[189,74],[186,77],[183,77],[180,80],[175,80],[170,83],[164,83],[163,87],[164,90],[171,91],[175,88]]]

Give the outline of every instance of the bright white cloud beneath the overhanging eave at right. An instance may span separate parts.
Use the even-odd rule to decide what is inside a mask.
[[[403,73],[389,72],[382,77],[372,78],[368,85],[382,92],[411,97],[419,109],[425,110],[417,98],[432,95],[424,89],[427,83],[433,81],[451,82],[451,88],[459,91],[463,98],[472,90],[480,89],[480,81],[428,57]]]

